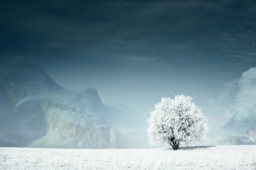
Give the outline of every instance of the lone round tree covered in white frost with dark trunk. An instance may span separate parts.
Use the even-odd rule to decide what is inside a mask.
[[[155,105],[148,119],[150,144],[170,144],[177,150],[179,144],[204,142],[209,130],[207,118],[191,100],[177,95],[174,99],[164,97]]]

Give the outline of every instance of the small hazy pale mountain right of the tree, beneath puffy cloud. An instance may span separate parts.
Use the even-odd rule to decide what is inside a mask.
[[[213,144],[256,144],[256,110],[244,108],[209,134]]]

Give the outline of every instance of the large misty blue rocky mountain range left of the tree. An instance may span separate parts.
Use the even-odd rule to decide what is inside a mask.
[[[95,88],[68,91],[29,60],[6,72],[0,79],[0,146],[136,147],[138,112],[103,105]]]

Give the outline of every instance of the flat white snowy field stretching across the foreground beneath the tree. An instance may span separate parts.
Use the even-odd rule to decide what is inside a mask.
[[[256,145],[169,149],[0,147],[0,170],[256,170]]]

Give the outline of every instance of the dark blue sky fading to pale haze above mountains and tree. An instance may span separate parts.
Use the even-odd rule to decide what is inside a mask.
[[[216,129],[236,92],[226,82],[256,64],[254,0],[1,1],[0,66],[30,59],[69,90],[147,114],[185,94]],[[3,71],[3,70],[2,70]]]

